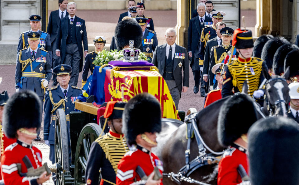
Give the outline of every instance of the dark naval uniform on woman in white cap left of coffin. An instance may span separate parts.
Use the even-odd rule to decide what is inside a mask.
[[[90,69],[90,75],[93,75],[93,69],[95,66],[93,61],[95,60],[97,54],[98,54],[98,52],[96,50],[94,50],[90,53],[87,53],[87,55],[85,57],[85,64],[84,64],[83,73],[82,73],[82,88],[86,84],[89,69]]]

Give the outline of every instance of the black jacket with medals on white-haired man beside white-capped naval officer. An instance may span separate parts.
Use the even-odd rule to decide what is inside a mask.
[[[205,16],[203,22],[212,22],[212,19],[210,17]],[[192,52],[192,60],[190,66],[192,66],[193,64],[194,52],[196,48],[199,47],[200,34],[202,32],[202,28],[204,27],[205,27],[204,24],[203,25],[200,24],[198,16],[190,19],[189,27],[188,27],[188,52],[189,51]]]

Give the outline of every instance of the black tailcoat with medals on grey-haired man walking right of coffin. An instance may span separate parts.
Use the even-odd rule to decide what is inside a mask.
[[[187,49],[175,44],[175,53],[185,53],[185,58],[173,57],[173,76],[175,83],[178,86],[180,94],[182,94],[182,86],[189,87],[189,60]],[[159,73],[163,76],[165,68],[165,57],[166,57],[166,43],[158,45],[154,51],[152,63],[158,67]],[[182,66],[178,65],[182,63]],[[182,68],[184,70],[184,76],[182,76]]]

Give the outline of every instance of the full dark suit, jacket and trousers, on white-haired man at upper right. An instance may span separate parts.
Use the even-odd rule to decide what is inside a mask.
[[[195,81],[195,86],[199,87],[199,82],[201,81],[201,92],[204,93],[205,90],[203,89],[205,83],[202,78],[202,74],[200,72],[200,66],[198,58],[195,56],[195,52],[199,49],[199,43],[200,43],[200,34],[202,31],[202,28],[204,28],[205,24],[204,22],[212,22],[212,19],[205,16],[205,19],[203,20],[203,24],[200,23],[199,17],[196,16],[192,19],[190,19],[189,22],[189,28],[188,28],[188,51],[192,52],[192,59],[190,67],[192,68],[193,77]]]

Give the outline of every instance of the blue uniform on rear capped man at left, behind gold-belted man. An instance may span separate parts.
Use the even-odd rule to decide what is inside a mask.
[[[31,32],[31,30],[21,33],[19,38],[19,44],[18,44],[18,52],[22,49],[29,47],[28,40],[27,40],[28,39],[27,33],[29,32]],[[37,32],[40,33],[40,44],[38,45],[38,47],[40,49],[46,50],[49,53],[50,61],[52,64],[52,46],[51,46],[50,35],[40,30],[38,30]]]

